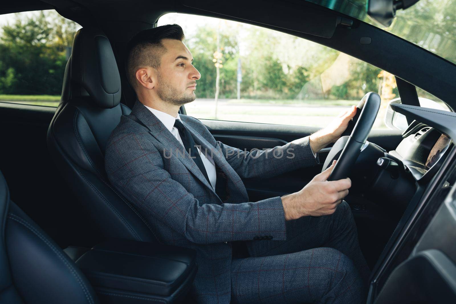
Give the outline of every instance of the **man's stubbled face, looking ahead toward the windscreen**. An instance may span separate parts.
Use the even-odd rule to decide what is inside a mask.
[[[192,53],[182,41],[163,39],[166,47],[157,69],[157,94],[161,100],[183,105],[195,100],[196,81],[201,77],[192,65]]]

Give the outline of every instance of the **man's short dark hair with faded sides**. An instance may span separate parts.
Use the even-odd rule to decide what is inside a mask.
[[[136,87],[135,74],[140,67],[160,67],[161,57],[166,52],[161,42],[163,39],[182,41],[184,38],[184,31],[177,24],[158,26],[136,34],[127,45],[126,72],[131,86]]]

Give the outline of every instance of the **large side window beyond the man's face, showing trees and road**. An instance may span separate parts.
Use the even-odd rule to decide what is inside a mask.
[[[170,13],[202,77],[188,115],[268,124],[324,127],[376,92],[382,106],[374,129],[386,129],[388,102],[399,97],[394,75],[300,37],[235,21]]]

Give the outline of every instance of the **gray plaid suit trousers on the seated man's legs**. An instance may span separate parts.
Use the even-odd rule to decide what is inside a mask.
[[[232,303],[365,303],[369,269],[352,211],[286,222],[285,241],[247,242],[231,263]]]

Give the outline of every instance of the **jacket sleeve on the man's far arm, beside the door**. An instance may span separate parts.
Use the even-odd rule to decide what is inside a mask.
[[[217,143],[219,151],[241,178],[273,177],[319,164],[318,155],[313,155],[308,136],[266,150],[244,151],[220,141]]]

